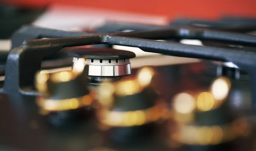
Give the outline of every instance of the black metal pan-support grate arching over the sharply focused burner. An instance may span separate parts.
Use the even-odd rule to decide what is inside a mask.
[[[71,33],[65,34],[71,35]],[[247,70],[251,77],[256,76],[256,72],[252,70],[256,66],[253,61],[256,58],[253,48],[247,51],[232,47],[192,46],[169,41],[154,41],[155,39],[168,39],[171,37],[207,39],[232,44],[239,43],[245,46],[255,46],[256,44],[256,37],[253,35],[191,28],[170,28],[144,32],[27,40],[24,41],[22,46],[15,47],[10,51],[6,63],[6,79],[1,92],[12,96],[33,94],[32,92],[24,92],[21,89],[33,85],[34,75],[37,70],[40,70],[42,58],[52,55],[64,47],[91,44],[131,46],[138,47],[145,52],[164,55],[231,61],[240,68]],[[252,87],[256,87],[256,79],[252,78],[251,81]],[[253,102],[254,104],[256,102],[255,93],[253,94]]]

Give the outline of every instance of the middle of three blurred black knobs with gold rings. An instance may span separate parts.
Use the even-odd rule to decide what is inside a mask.
[[[99,87],[102,109],[101,124],[110,127],[108,137],[114,142],[130,143],[145,139],[154,129],[154,122],[165,111],[159,95],[151,86],[154,70],[142,68],[136,78],[103,84]],[[153,127],[152,127],[153,126]]]

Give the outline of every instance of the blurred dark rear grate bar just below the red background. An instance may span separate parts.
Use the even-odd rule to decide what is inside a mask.
[[[95,29],[95,33],[107,34],[114,32],[123,32],[125,30],[142,31],[142,30],[155,30],[166,29],[168,27],[200,27],[200,28],[212,28],[218,30],[225,30],[230,32],[251,32],[256,30],[256,19],[250,18],[242,20],[236,17],[222,17],[220,20],[195,20],[187,18],[177,18],[169,23],[169,26],[156,26],[156,25],[142,25],[135,23],[116,23],[107,22],[103,26]]]

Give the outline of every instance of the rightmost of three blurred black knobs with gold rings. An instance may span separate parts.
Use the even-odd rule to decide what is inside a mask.
[[[229,100],[230,87],[228,78],[219,77],[209,90],[177,94],[173,100],[177,124],[170,129],[172,139],[186,144],[188,150],[197,146],[200,150],[212,151],[226,148],[227,143],[247,134],[247,119],[234,115],[228,105],[232,101]]]

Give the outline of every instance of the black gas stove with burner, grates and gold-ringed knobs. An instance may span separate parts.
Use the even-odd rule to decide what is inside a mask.
[[[256,150],[255,24],[23,26],[1,61],[0,148]]]

